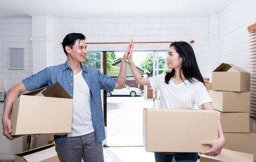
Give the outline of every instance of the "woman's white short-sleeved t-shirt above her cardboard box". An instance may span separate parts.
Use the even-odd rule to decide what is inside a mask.
[[[202,108],[202,104],[212,102],[202,82],[193,78],[193,82],[185,80],[176,85],[171,78],[169,84],[166,84],[165,75],[166,73],[149,78],[152,89],[160,91],[159,108],[193,109],[195,104]]]

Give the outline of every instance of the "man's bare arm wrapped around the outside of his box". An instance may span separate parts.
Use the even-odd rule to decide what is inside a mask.
[[[27,91],[25,85],[23,84],[23,82],[19,82],[19,84],[16,84],[9,89],[9,91],[7,92],[6,99],[4,101],[4,113],[2,117],[3,135],[10,140],[13,140],[14,138],[19,137],[19,136],[10,135],[10,133],[12,133],[12,121],[10,120],[10,114],[12,112],[12,104],[13,104],[13,101],[17,98],[17,96],[19,96],[21,92],[25,92],[25,91]]]

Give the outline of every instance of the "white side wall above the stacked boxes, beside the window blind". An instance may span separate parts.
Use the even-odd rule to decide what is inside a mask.
[[[250,71],[247,27],[256,23],[256,1],[234,1],[218,15],[218,23],[218,64],[235,64]],[[251,120],[250,126],[256,129],[256,122]]]

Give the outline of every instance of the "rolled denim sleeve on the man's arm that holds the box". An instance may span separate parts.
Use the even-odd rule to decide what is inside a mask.
[[[25,78],[22,80],[22,82],[28,91],[34,91],[36,89],[48,86],[47,78],[47,68],[45,68],[44,70]]]

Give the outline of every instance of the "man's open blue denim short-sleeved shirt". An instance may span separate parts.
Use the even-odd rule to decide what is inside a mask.
[[[82,65],[82,69],[83,78],[90,88],[90,107],[96,142],[100,143],[106,138],[100,89],[113,91],[116,80],[111,77],[107,77],[95,68]],[[68,66],[67,62],[58,66],[45,68],[35,75],[25,78],[22,82],[28,91],[34,91],[35,89],[51,86],[56,82],[60,82],[68,94],[73,97],[73,71]],[[54,141],[61,145],[65,145],[66,138],[67,135],[54,135]]]

